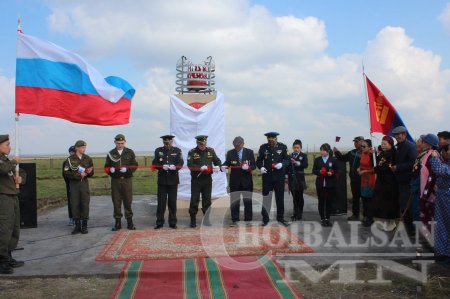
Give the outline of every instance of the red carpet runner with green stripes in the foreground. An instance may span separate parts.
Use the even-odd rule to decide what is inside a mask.
[[[303,298],[267,257],[127,262],[112,298]]]

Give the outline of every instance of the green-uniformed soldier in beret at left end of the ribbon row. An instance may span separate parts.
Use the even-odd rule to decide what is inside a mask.
[[[94,163],[85,152],[86,142],[78,140],[75,143],[75,154],[67,158],[68,165],[64,168],[64,176],[70,180],[70,202],[75,222],[73,235],[88,233],[87,221],[91,201],[88,178],[94,175]]]

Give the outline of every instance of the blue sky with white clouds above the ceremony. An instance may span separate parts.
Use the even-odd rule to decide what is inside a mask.
[[[0,3],[0,128],[14,137],[17,18],[24,33],[80,54],[105,77],[136,89],[130,124],[99,127],[22,115],[20,150],[136,151],[169,132],[175,66],[213,56],[225,95],[226,142],[250,148],[278,131],[320,146],[368,136],[362,65],[412,135],[450,130],[450,2],[442,0],[15,0]]]

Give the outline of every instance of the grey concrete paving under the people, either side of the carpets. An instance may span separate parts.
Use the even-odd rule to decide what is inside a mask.
[[[289,219],[292,214],[292,200],[287,193],[285,202],[285,218]],[[179,202],[178,206],[178,227],[187,227],[189,225],[187,203]],[[242,208],[243,205],[241,204]],[[89,233],[86,235],[71,235],[73,227],[67,225],[67,207],[57,208],[40,215],[37,228],[21,230],[19,242],[21,250],[13,252],[13,256],[16,259],[25,261],[25,266],[15,269],[14,274],[2,275],[1,278],[86,275],[117,277],[124,262],[95,261],[96,256],[114,234],[111,231],[114,223],[112,211],[112,202],[109,196],[92,197],[88,225]],[[135,213],[134,222],[138,229],[153,229],[155,225],[156,196],[134,196],[133,211]],[[255,204],[254,225],[259,225],[261,221],[260,211],[260,205]],[[200,216],[198,216],[199,218]],[[329,265],[336,259],[342,258],[373,259],[374,257],[389,257],[398,259],[415,256],[416,246],[402,248],[398,246],[377,247],[368,246],[368,244],[364,245],[364,242],[370,241],[370,238],[373,237],[370,229],[361,228],[361,225],[358,226],[357,223],[349,225],[346,221],[346,216],[332,217],[335,225],[332,228],[322,228],[317,222],[319,220],[317,199],[306,195],[303,218],[304,221],[294,222],[289,228],[292,232],[298,234],[301,239],[309,240],[307,243],[310,243],[314,248],[314,254],[302,255],[301,257],[307,259],[309,264]],[[355,230],[355,228],[359,229]],[[312,233],[308,233],[311,230]],[[340,239],[341,233],[343,239],[346,240],[345,242]],[[317,238],[321,238],[322,241],[319,240],[319,242]],[[353,241],[351,241],[351,238],[353,238]],[[400,240],[397,243],[402,242]]]

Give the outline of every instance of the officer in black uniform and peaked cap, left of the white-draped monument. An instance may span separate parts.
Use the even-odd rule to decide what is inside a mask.
[[[169,226],[177,228],[177,192],[180,180],[178,171],[183,166],[183,155],[178,147],[172,146],[172,135],[161,136],[164,146],[155,150],[152,166],[158,168],[158,207],[156,209],[156,226],[164,225],[166,205],[169,207]]]

